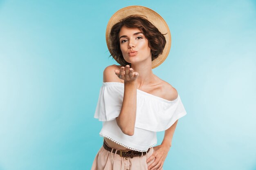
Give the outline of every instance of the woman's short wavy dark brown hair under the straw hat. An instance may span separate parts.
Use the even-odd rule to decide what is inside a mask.
[[[120,49],[119,32],[122,26],[126,26],[128,28],[138,28],[141,30],[148,40],[148,46],[152,54],[152,61],[163,53],[164,46],[166,44],[164,37],[165,34],[162,34],[145,15],[129,15],[113,25],[110,31],[110,49],[112,54],[110,54],[109,57],[112,56],[119,64],[121,64],[121,66],[130,65],[130,63],[124,60]]]

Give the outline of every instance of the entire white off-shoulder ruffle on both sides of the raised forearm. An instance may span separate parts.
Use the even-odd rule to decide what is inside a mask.
[[[99,92],[94,118],[99,119],[99,121],[114,120],[119,116],[123,99],[123,83],[103,83]],[[177,99],[169,101],[137,90],[136,128],[154,132],[164,131],[184,115],[186,115],[186,110],[180,95],[178,95]]]

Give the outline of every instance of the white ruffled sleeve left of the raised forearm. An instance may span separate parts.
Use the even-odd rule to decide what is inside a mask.
[[[124,89],[115,86],[115,82],[103,83],[99,91],[99,99],[94,118],[99,121],[114,120],[119,116],[124,98]]]

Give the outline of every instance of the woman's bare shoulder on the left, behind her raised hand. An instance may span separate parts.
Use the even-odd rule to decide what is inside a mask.
[[[121,82],[115,74],[115,69],[119,70],[121,66],[115,64],[107,66],[103,71],[103,82]]]

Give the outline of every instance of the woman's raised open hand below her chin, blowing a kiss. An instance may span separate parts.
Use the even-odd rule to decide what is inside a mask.
[[[115,73],[119,79],[123,79],[124,82],[134,82],[139,76],[139,73],[133,72],[133,69],[129,65],[126,67],[121,67],[120,70],[115,70]]]

